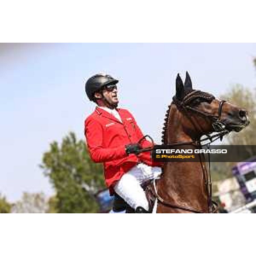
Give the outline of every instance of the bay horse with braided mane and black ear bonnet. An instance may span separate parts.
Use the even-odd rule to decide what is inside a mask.
[[[176,94],[166,112],[162,142],[200,147],[203,135],[209,137],[217,132],[222,137],[230,131],[241,131],[249,123],[246,110],[210,93],[194,90],[186,72],[184,84],[177,75]],[[213,212],[209,177],[204,159],[201,163],[164,163],[163,173],[153,189],[158,201],[157,213]]]

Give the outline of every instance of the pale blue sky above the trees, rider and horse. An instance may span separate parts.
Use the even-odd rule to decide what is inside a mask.
[[[0,44],[0,192],[51,195],[38,167],[53,140],[84,138],[94,105],[84,81],[98,72],[118,78],[120,107],[160,143],[175,78],[189,71],[195,88],[221,95],[236,83],[255,87],[256,44]]]

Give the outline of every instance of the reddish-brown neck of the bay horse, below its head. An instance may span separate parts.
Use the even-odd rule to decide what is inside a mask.
[[[164,138],[166,144],[192,142],[192,137],[183,130],[181,118],[182,113],[172,104]],[[193,205],[207,211],[207,192],[202,175],[201,163],[167,163],[163,169],[160,187],[176,204],[185,201],[188,206]]]

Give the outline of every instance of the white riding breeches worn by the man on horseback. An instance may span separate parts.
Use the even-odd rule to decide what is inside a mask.
[[[140,206],[148,210],[148,200],[140,185],[146,180],[158,177],[161,172],[160,167],[151,167],[139,163],[121,177],[114,186],[114,190],[132,208],[136,209]]]

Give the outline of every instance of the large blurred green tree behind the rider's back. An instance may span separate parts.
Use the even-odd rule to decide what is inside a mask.
[[[50,144],[41,168],[56,191],[49,202],[53,211],[98,212],[93,195],[105,188],[102,165],[91,161],[84,141],[77,140],[73,132],[64,137],[61,145],[56,141]]]

